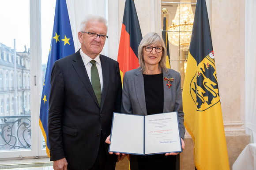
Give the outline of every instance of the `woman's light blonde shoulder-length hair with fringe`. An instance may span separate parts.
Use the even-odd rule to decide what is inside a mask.
[[[143,74],[145,74],[146,72],[145,63],[143,59],[143,47],[150,44],[160,44],[163,47],[162,58],[159,61],[158,69],[160,71],[164,69],[167,72],[168,69],[166,67],[166,45],[164,43],[164,40],[162,39],[162,36],[160,36],[158,33],[147,33],[139,43],[138,58],[139,65],[141,67],[140,71],[142,71]]]

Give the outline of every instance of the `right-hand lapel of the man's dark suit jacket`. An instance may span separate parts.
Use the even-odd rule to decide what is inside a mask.
[[[109,87],[109,63],[105,61],[105,58],[100,54],[101,64],[102,64],[102,76],[103,76],[103,88],[102,88],[102,106],[105,103],[105,98],[107,95],[107,90]]]

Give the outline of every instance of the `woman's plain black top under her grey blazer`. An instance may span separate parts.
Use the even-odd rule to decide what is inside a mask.
[[[163,74],[143,74],[147,115],[162,113],[164,107]]]

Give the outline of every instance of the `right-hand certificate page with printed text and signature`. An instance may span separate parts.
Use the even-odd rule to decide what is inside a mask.
[[[182,152],[177,112],[145,116],[145,154]]]

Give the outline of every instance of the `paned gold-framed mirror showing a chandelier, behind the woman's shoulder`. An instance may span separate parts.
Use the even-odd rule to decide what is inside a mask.
[[[188,50],[192,34],[196,0],[164,0],[162,10],[166,8],[166,30],[170,53],[171,69],[181,73],[181,88],[183,87]]]

